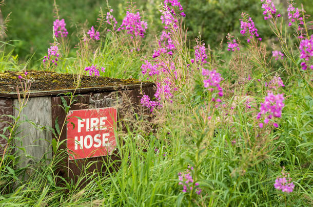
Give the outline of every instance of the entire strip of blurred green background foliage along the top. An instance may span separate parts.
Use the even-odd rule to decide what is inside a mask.
[[[148,21],[148,34],[151,37],[161,29],[158,11],[161,2],[162,0],[136,1],[136,9],[144,11],[144,18]],[[71,47],[74,47],[78,40],[77,25],[82,25],[87,20],[87,26],[91,27],[96,24],[100,7],[103,8],[104,13],[107,12],[107,2],[104,0],[67,0],[56,1],[56,3],[60,10],[60,17],[64,18],[67,24]],[[211,47],[216,47],[221,40],[225,40],[228,32],[235,36],[240,35],[239,19],[243,11],[251,15],[263,39],[273,35],[263,18],[259,0],[181,0],[181,3],[186,13],[188,37],[193,40],[200,32],[202,39]],[[312,13],[311,0],[297,1],[297,6],[300,7],[301,3],[304,4],[308,14]],[[109,0],[108,4],[121,24],[129,3],[122,0]],[[278,9],[283,10],[283,5],[280,4]],[[18,54],[22,60],[30,58],[33,53],[35,53],[33,60],[42,58],[47,52],[49,43],[53,41],[52,25],[55,19],[53,1],[10,0],[6,1],[2,11],[3,16],[12,12],[6,40],[19,40],[12,42],[15,46],[14,54]]]

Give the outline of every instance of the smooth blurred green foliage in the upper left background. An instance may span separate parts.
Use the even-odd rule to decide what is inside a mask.
[[[75,33],[75,22],[95,22],[101,6],[100,0],[57,1],[59,15],[65,19],[66,28],[71,36]],[[3,8],[6,16],[12,12],[8,28],[7,40],[15,41],[15,53],[23,59],[36,53],[35,59],[41,58],[47,52],[49,43],[53,41],[52,27],[54,21],[53,1],[7,1]],[[75,38],[75,37],[72,37]]]

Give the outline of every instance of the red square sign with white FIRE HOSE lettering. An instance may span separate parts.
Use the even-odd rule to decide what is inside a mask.
[[[116,109],[113,107],[70,110],[67,116],[69,159],[111,154],[116,147],[116,120]]]

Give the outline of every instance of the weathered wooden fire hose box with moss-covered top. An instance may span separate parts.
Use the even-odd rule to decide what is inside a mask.
[[[25,79],[19,79],[21,75]],[[23,108],[19,121],[23,122],[18,131],[21,142],[16,142],[16,147],[23,147],[27,155],[21,153],[22,167],[32,162],[38,162],[43,156],[51,159],[52,139],[54,131],[60,130],[66,118],[62,106],[69,104],[67,93],[74,93],[73,74],[58,74],[53,72],[30,71],[27,76],[22,72],[0,73],[0,133],[9,126],[13,120],[9,116],[17,116],[18,95],[16,87],[21,93],[21,81],[31,80],[29,99]],[[105,160],[104,156],[111,155],[116,147],[114,127],[116,122],[123,117],[123,110],[118,110],[116,104],[123,104],[125,98],[134,105],[140,105],[142,93],[153,97],[154,83],[141,82],[135,79],[114,79],[106,77],[83,76],[79,88],[75,91],[75,102],[67,114],[68,123],[60,135],[60,142],[64,141],[61,149],[66,149],[68,156],[64,160],[66,170],[58,172],[64,177],[77,179],[82,167],[88,162]],[[128,101],[127,100],[127,101]],[[60,129],[57,129],[57,125]],[[8,137],[9,131],[4,134]],[[65,141],[66,140],[66,141]],[[22,143],[22,146],[20,146]],[[0,155],[3,154],[7,140],[0,137]],[[110,157],[114,159],[114,157]],[[89,167],[92,172],[103,165],[97,162]],[[100,162],[101,163],[101,162]],[[100,169],[99,169],[100,170]]]

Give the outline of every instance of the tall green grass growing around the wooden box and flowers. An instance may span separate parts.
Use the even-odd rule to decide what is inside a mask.
[[[292,58],[274,63],[271,53],[258,42],[248,47],[241,43],[241,50],[234,53],[226,51],[226,45],[221,44],[218,49],[206,49],[208,63],[202,66],[191,62],[194,51],[185,41],[183,25],[182,21],[172,34],[178,52],[160,57],[174,61],[180,70],[179,78],[173,82],[179,88],[173,92],[172,103],[161,94],[162,107],[155,108],[148,118],[135,112],[145,108],[129,107],[128,116],[120,120],[121,128],[115,131],[119,137],[116,139],[118,159],[103,157],[102,172],[89,172],[91,163],[86,162],[79,180],[74,182],[55,173],[61,160],[68,156],[66,150],[58,149],[62,144],[58,130],[51,143],[52,160],[43,156],[40,162],[20,168],[23,160],[16,151],[23,151],[23,147],[16,149],[14,144],[8,145],[9,151],[14,149],[16,154],[6,153],[1,160],[0,205],[311,206],[312,72],[295,70],[300,68],[297,45],[292,46],[295,52]],[[140,40],[141,50],[135,51],[127,41],[127,33],[104,33],[106,36],[99,42],[86,43],[81,36],[74,57],[60,58],[55,70],[78,74],[77,87],[84,68],[91,64],[106,67],[102,76],[146,79],[141,74],[141,65],[159,47],[157,42]],[[198,41],[201,43],[200,38]],[[60,48],[64,53],[65,46]],[[285,49],[284,45],[282,48]],[[8,69],[10,57],[8,54],[1,59],[3,68]],[[211,101],[214,95],[203,85],[202,67],[217,68],[224,78],[224,96],[218,107]],[[279,127],[260,128],[256,117],[268,89],[265,82],[275,73],[279,73],[285,84],[279,89],[284,94],[285,107],[277,121]],[[71,105],[75,94],[70,100]],[[68,112],[69,108],[63,107]],[[65,123],[59,126],[60,130]],[[14,128],[11,133],[12,139],[19,139]],[[179,173],[187,172],[190,167],[193,190],[185,193],[179,184]],[[295,184],[289,194],[274,188],[283,167]],[[30,170],[32,175],[25,176]],[[196,182],[202,190],[200,195],[194,192]]]

